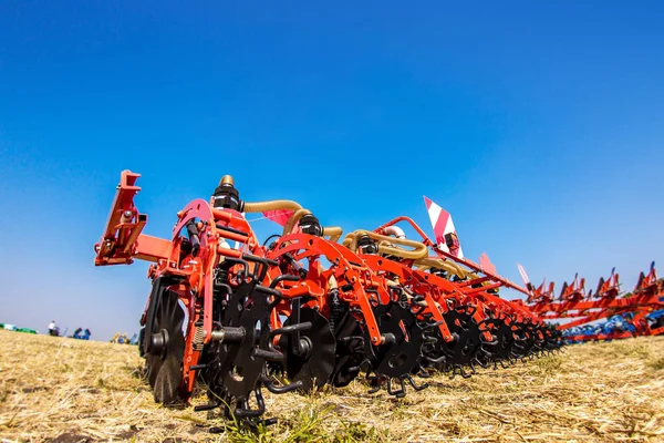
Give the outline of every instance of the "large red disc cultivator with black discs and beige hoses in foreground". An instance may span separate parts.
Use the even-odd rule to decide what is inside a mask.
[[[255,421],[263,388],[309,391],[362,375],[372,391],[403,396],[434,371],[469,377],[477,365],[562,343],[526,305],[498,296],[504,287],[529,292],[486,256],[480,265],[465,259],[452,218],[444,213],[444,223],[428,199],[436,241],[407,217],[341,240],[340,227],[322,226],[295,202],[241,199],[225,176],[208,200],[177,214],[170,238],[157,238],[142,233],[138,177],[121,175],[95,265],[152,262],[138,344],[157,402],[188,400],[198,379],[209,402],[196,410]],[[259,241],[250,213],[274,219],[281,233]]]

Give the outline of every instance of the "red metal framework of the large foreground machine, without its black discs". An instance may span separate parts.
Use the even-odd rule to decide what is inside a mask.
[[[186,398],[194,389],[203,346],[212,340],[214,275],[226,258],[246,259],[247,262],[252,262],[256,258],[268,260],[263,260],[269,267],[264,281],[260,284],[266,288],[278,289],[279,296],[272,295],[270,299],[272,329],[281,327],[281,316],[289,316],[293,299],[302,296],[307,296],[303,306],[329,316],[331,307],[328,295],[331,285],[334,285],[352,315],[365,324],[371,343],[384,344],[386,338],[381,333],[374,308],[395,298],[396,291],[390,287],[394,285],[394,278],[414,295],[422,297],[418,299],[424,300],[423,309],[413,306],[413,312],[422,318],[427,316],[427,319],[430,316],[445,341],[452,341],[453,334],[443,316],[457,306],[471,307],[471,316],[478,323],[498,318],[508,326],[543,326],[541,318],[526,305],[508,301],[496,295],[501,287],[530,293],[527,289],[497,275],[492,269],[485,269],[470,260],[440,250],[408,217],[397,217],[378,227],[375,233],[384,234],[386,227],[406,222],[422,236],[424,245],[433,251],[434,259],[454,261],[480,276],[465,281],[449,281],[418,270],[414,267],[414,260],[393,261],[380,256],[356,254],[335,241],[303,234],[299,229],[281,236],[273,246],[266,248],[258,243],[242,214],[234,209],[215,208],[211,202],[200,198],[191,200],[177,214],[177,223],[169,239],[148,236],[142,233],[147,215],[142,214],[134,204],[134,198],[141,190],[136,185],[138,177],[139,174],[131,171],[122,172],[106,227],[95,245],[94,262],[95,266],[128,265],[137,258],[152,262],[148,277],[153,280],[165,276],[177,277],[177,282],[169,289],[178,295],[188,313],[180,383]],[[198,239],[195,250],[190,248],[190,233],[189,237],[184,235],[184,230],[191,226],[196,227]],[[230,248],[228,241],[237,243],[239,247]],[[286,259],[287,254],[290,259]],[[330,265],[323,266],[322,260]],[[239,268],[240,265],[230,267],[231,279],[239,275]],[[301,275],[302,269],[305,269],[304,276]],[[284,275],[299,278],[288,279],[283,278]],[[262,275],[260,278],[263,278]],[[643,288],[640,290],[647,291],[652,286],[652,277],[644,276],[642,280]],[[148,307],[149,302],[142,316],[142,324],[147,321]],[[491,339],[489,330],[483,330],[483,333],[487,340]],[[539,338],[542,337],[542,332],[537,333]],[[277,337],[272,340],[277,340]],[[409,373],[405,375],[409,377]]]

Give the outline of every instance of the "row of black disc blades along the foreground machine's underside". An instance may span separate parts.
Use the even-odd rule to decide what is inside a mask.
[[[418,319],[411,306],[390,302],[374,307],[374,317],[381,333],[388,337],[385,344],[371,346],[362,320],[346,311],[335,321],[334,330],[328,318],[317,309],[301,308],[298,316],[287,318],[283,327],[311,323],[297,336],[282,334],[272,349],[269,331],[270,306],[264,297],[256,297],[251,288],[227,293],[216,300],[215,320],[224,327],[243,327],[247,337],[237,344],[207,344],[200,362],[205,364],[203,379],[212,403],[227,412],[249,413],[249,403],[260,402],[260,380],[267,368],[282,372],[299,389],[311,391],[325,384],[347,385],[361,372],[371,384],[387,382],[388,391],[403,394],[403,389],[392,390],[391,382],[401,387],[412,375],[432,371],[450,372],[467,377],[476,365],[487,367],[510,363],[536,353],[560,347],[560,337],[553,328],[509,323],[507,318],[489,318],[477,322],[467,307],[450,309],[444,320],[453,336],[446,342],[439,329],[430,321]],[[152,313],[152,315],[151,315]],[[172,403],[178,398],[185,351],[186,316],[178,303],[177,292],[160,290],[151,296],[148,326],[144,334],[159,332],[165,346],[155,352],[145,349],[147,378],[155,401]],[[295,318],[299,317],[299,318]],[[483,332],[489,332],[486,340]],[[543,339],[538,338],[538,332]],[[149,336],[147,336],[149,337]],[[305,351],[294,352],[291,340],[307,343]],[[257,350],[277,352],[282,359],[268,361],[257,357]],[[257,391],[258,385],[258,391]],[[251,398],[251,395],[256,398]]]

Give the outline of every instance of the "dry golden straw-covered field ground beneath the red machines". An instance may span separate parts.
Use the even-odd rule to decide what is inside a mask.
[[[266,392],[279,422],[258,433],[156,405],[135,347],[3,330],[0,342],[2,442],[664,442],[664,337],[573,346],[468,380],[438,375],[401,400],[360,382]]]

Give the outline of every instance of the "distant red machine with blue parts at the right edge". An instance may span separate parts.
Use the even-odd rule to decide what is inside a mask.
[[[641,272],[631,292],[621,292],[615,269],[601,278],[596,289],[585,292],[585,279],[577,275],[562,286],[558,298],[554,285],[546,281],[535,288],[523,268],[519,270],[529,290],[528,305],[547,320],[568,320],[559,324],[566,342],[613,340],[664,333],[664,280],[657,278],[654,261],[649,274]]]

